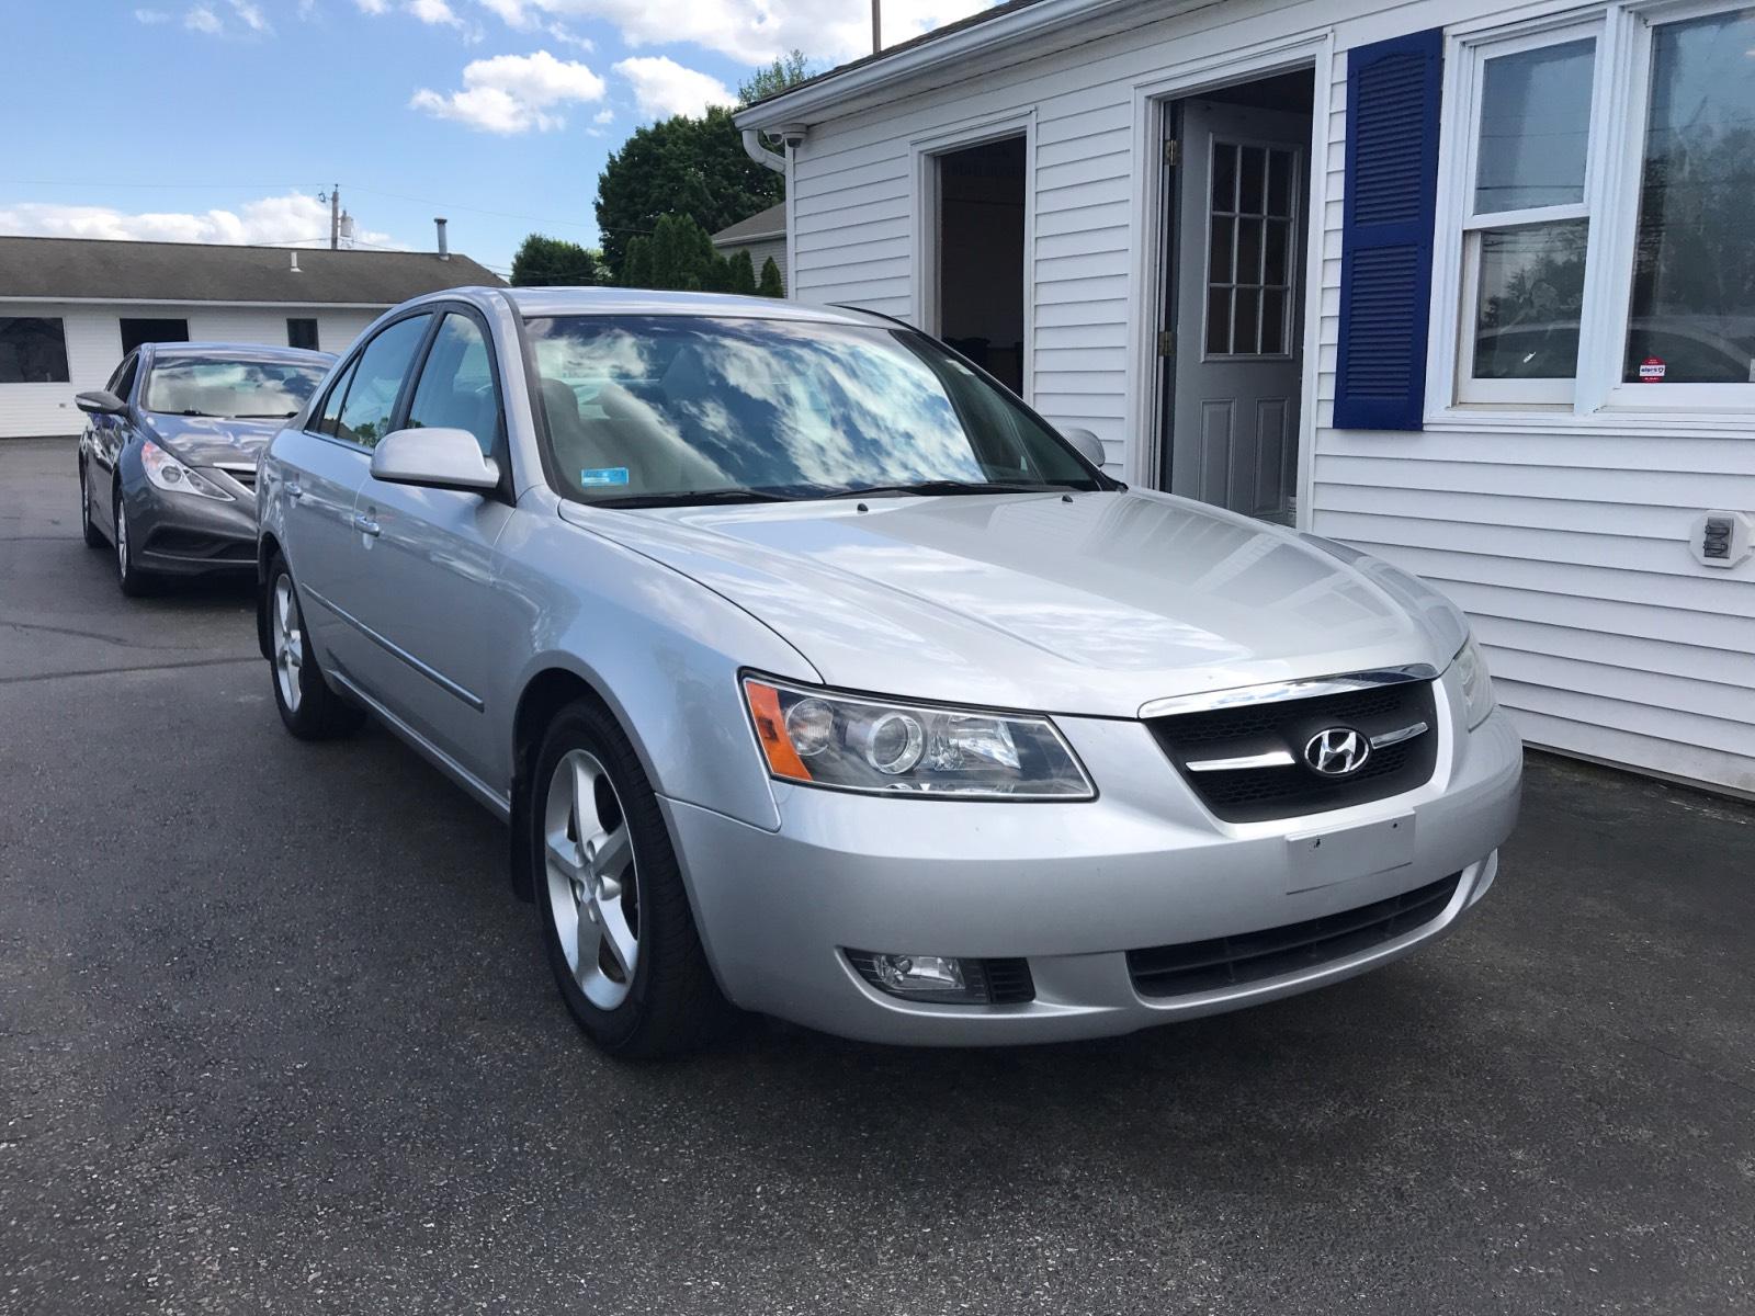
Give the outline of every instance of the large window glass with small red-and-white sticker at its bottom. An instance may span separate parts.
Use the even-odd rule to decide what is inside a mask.
[[[1667,23],[1651,33],[1623,379],[1755,383],[1751,209],[1755,9]]]

